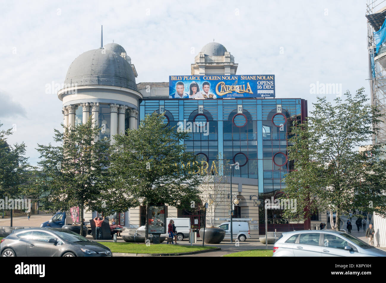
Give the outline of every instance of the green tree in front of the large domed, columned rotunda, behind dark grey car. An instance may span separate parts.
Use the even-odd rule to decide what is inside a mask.
[[[90,118],[85,124],[66,127],[63,133],[55,129],[56,145],[50,143],[37,148],[41,167],[37,189],[47,193],[42,203],[51,210],[68,211],[78,206],[80,234],[84,208],[97,210],[106,189],[103,172],[108,166],[109,141],[98,140],[99,131]]]

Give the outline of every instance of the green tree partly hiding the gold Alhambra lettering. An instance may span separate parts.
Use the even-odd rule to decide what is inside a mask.
[[[138,129],[115,136],[110,151],[108,186],[121,203],[146,206],[146,238],[149,205],[178,207],[200,193],[197,157],[183,144],[189,133],[166,126],[164,118],[164,114],[147,115]]]

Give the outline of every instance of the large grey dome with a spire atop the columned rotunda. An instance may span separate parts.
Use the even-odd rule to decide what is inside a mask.
[[[64,84],[113,85],[137,90],[130,64],[117,53],[102,48],[76,57],[68,68]]]

